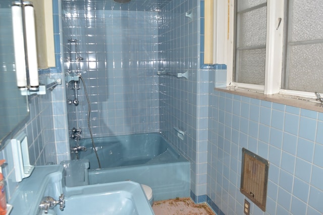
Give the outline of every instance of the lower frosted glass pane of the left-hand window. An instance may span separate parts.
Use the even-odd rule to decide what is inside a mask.
[[[236,82],[264,85],[266,49],[237,51]]]

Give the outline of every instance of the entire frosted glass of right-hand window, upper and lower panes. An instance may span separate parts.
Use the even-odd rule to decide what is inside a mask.
[[[282,88],[323,92],[323,4],[289,1],[286,70]]]

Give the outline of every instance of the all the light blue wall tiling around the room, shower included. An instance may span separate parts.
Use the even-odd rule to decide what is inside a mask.
[[[91,18],[92,11],[71,5],[69,10],[75,10],[72,15],[82,15],[82,18],[64,16],[60,4],[58,0],[53,1],[57,66],[42,74],[64,80],[64,68],[60,62],[66,55],[66,41],[71,36],[80,37],[79,50],[85,59],[82,75],[88,86],[95,86],[88,91],[93,99],[91,116],[96,135],[160,130],[191,162],[192,199],[206,201],[217,214],[241,214],[243,211],[245,197],[239,187],[241,148],[246,147],[270,161],[267,211],[262,212],[251,203],[250,214],[323,213],[320,183],[323,174],[323,114],[214,91],[214,86],[225,84],[226,66],[211,65],[213,70],[199,69],[203,57],[203,11],[200,7],[203,1],[173,0],[163,5],[158,14],[139,12],[139,9],[138,15],[132,11],[97,10],[93,12],[97,17],[95,20]],[[119,14],[112,20],[114,12]],[[193,12],[192,20],[185,17],[186,12]],[[132,29],[131,34],[136,36],[132,38],[130,31],[113,27],[114,33],[107,38],[111,35],[106,32],[107,28],[98,28],[94,21],[103,26],[107,23],[119,27],[127,24],[127,29],[136,25],[143,30]],[[79,28],[75,23],[82,23],[87,29]],[[58,27],[66,29],[62,31]],[[85,30],[90,33],[85,34]],[[121,43],[125,42],[121,32],[125,33],[128,43],[123,44],[126,46]],[[135,45],[138,43],[140,47]],[[63,56],[60,51],[64,52]],[[102,52],[104,57],[99,54]],[[132,52],[136,55],[131,55]],[[122,61],[118,60],[120,57]],[[98,72],[101,69],[103,73]],[[158,77],[157,70],[189,71],[189,80]],[[127,88],[121,87],[123,85]],[[129,93],[130,90],[136,93]],[[59,163],[69,159],[67,115],[72,122],[81,120],[76,127],[86,127],[86,104],[79,106],[82,117],[77,116],[71,106],[67,114],[67,95],[62,85],[46,95],[30,97],[30,120],[21,131],[28,135],[32,164]],[[84,94],[80,93],[80,99],[85,100]],[[101,111],[103,105],[105,111]],[[148,106],[153,108],[151,112],[147,111]],[[106,124],[106,118],[110,118],[109,124]],[[99,129],[101,126],[104,131]],[[129,130],[128,126],[136,130]],[[184,141],[177,138],[174,126],[185,131]],[[84,135],[88,134],[85,132]],[[6,158],[5,151],[0,153],[0,158]],[[18,185],[12,181],[11,172],[8,166],[4,169],[9,199]]]

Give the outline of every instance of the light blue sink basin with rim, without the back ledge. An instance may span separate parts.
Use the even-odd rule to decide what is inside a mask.
[[[141,215],[154,214],[140,184],[130,181],[67,187],[65,207],[58,206],[48,214],[114,214]],[[55,213],[54,213],[55,211]],[[44,214],[41,211],[40,214]]]

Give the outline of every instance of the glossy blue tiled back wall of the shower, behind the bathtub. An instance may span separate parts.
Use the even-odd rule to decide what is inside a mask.
[[[91,102],[93,136],[114,136],[159,131],[158,16],[157,12],[84,10],[63,5],[65,72],[77,72],[85,80]],[[78,65],[68,62],[69,39],[77,39]],[[75,59],[75,55],[72,55]],[[74,60],[72,59],[72,60]],[[74,99],[74,89],[67,89]],[[78,106],[68,105],[69,127],[87,128],[88,104],[82,82]]]

